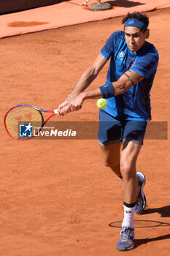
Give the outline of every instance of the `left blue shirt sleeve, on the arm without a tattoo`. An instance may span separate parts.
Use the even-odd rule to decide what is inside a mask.
[[[113,34],[111,34],[109,39],[107,39],[107,42],[104,45],[104,47],[101,49],[101,55],[104,56],[107,60],[109,60],[110,57],[114,54],[114,48],[117,45],[117,40],[120,38],[121,33],[122,31],[116,31]]]

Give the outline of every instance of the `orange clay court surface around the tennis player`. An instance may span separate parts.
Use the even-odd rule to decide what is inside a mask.
[[[170,9],[147,12],[160,62],[152,86],[152,121],[170,121]],[[123,219],[121,181],[103,166],[98,140],[15,141],[3,116],[28,103],[53,109],[66,99],[122,18],[8,37],[0,41],[0,255],[169,255],[169,139],[145,140],[137,170],[147,176],[147,209],[135,216],[131,252],[117,252]],[[108,67],[108,66],[107,66]],[[105,67],[91,88],[104,84]],[[96,100],[53,121],[97,121]],[[97,131],[96,131],[97,132]],[[117,223],[113,223],[117,222]],[[144,228],[145,227],[145,228]]]

